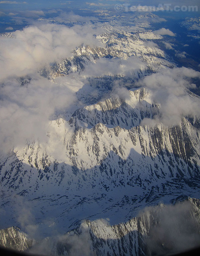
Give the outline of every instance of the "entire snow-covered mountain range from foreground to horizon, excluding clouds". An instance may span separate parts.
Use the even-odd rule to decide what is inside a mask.
[[[151,255],[154,248],[145,239],[159,218],[151,209],[135,216],[146,206],[188,197],[197,198],[188,200],[197,229],[200,225],[200,116],[181,112],[176,124],[162,123],[163,106],[153,97],[157,88],[141,84],[143,78],[176,66],[156,44],[165,40],[151,27],[159,18],[148,14],[113,20],[102,15],[102,20],[88,22],[101,28],[95,35],[101,46],[80,45],[62,62],[17,80],[21,90],[41,77],[55,87],[65,76],[78,80],[73,88],[78,104],[54,113],[44,141],[27,138],[25,145],[1,153],[1,227],[13,226],[0,231],[3,246],[34,250],[37,233],[46,237],[68,232],[73,242],[79,236],[83,243],[89,241],[85,255]],[[197,95],[183,91],[184,99],[199,106]],[[62,237],[58,243],[44,241],[55,255],[79,253]],[[177,249],[156,243],[159,253]]]

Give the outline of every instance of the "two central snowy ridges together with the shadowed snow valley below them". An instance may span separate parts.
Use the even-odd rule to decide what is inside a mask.
[[[159,111],[150,99],[145,88],[131,90],[127,99],[110,98],[75,111],[69,121],[52,121],[47,144],[27,142],[2,156],[2,190],[29,198],[39,219],[53,209],[65,229],[86,217],[122,222],[139,206],[197,197],[199,118],[140,126]],[[5,209],[13,203],[7,196]]]

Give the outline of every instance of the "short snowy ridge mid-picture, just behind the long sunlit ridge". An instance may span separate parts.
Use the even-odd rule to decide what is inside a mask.
[[[127,91],[124,98],[114,96],[97,104],[78,109],[72,115],[70,124],[81,120],[90,127],[102,123],[108,128],[120,126],[131,129],[138,126],[144,118],[152,118],[156,112],[156,104],[151,101],[145,88]]]

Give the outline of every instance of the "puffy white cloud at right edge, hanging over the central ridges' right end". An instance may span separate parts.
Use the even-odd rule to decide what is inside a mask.
[[[160,104],[160,114],[153,121],[143,120],[141,125],[177,125],[183,116],[200,115],[199,98],[191,97],[184,89],[196,87],[188,80],[195,77],[200,78],[200,72],[182,67],[160,70],[140,81],[140,86],[150,89],[152,100]]]

